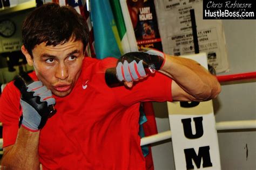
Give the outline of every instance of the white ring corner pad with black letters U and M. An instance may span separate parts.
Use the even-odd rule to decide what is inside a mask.
[[[206,53],[184,55],[207,68]],[[212,101],[167,102],[176,169],[221,169]]]

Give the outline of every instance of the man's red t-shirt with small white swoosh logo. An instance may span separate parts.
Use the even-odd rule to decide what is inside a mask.
[[[75,88],[57,97],[56,115],[40,132],[39,161],[44,169],[145,169],[140,148],[139,102],[172,101],[169,77],[147,77],[132,89],[109,88],[105,69],[117,60],[85,58]],[[30,76],[36,80],[33,72]],[[3,147],[15,144],[21,94],[10,82],[0,102]]]

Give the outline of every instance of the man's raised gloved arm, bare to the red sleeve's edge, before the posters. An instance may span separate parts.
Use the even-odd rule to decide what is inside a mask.
[[[118,62],[117,78],[119,81],[124,81],[125,86],[131,88],[133,81],[138,81],[146,75],[137,70],[151,65],[173,79],[173,101],[207,101],[217,97],[220,93],[221,88],[216,77],[198,62],[152,50],[146,53],[131,52],[123,55]],[[136,79],[133,75],[136,75]]]

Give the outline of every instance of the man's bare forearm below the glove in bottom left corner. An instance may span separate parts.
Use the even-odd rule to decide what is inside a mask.
[[[23,127],[18,131],[16,143],[4,148],[4,169],[39,169],[39,131],[30,132]]]

